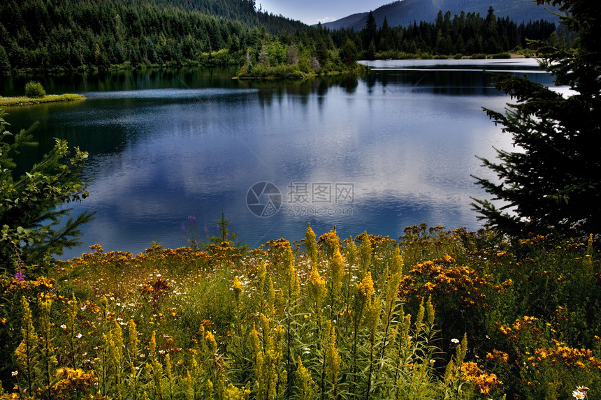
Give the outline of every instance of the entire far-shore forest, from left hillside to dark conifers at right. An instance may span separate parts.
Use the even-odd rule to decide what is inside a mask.
[[[527,39],[566,40],[550,22],[518,25],[492,9],[484,18],[440,12],[433,23],[390,27],[384,20],[379,28],[370,13],[361,31],[330,31],[256,10],[253,0],[0,2],[0,74],[184,65],[249,71],[282,64],[307,72],[406,54],[495,54],[526,47]]]

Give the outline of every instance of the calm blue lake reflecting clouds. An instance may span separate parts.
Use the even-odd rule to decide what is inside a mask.
[[[215,221],[251,247],[363,231],[396,239],[407,225],[481,227],[471,198],[486,198],[470,175],[493,177],[476,156],[512,149],[511,135],[482,107],[510,99],[484,71],[552,84],[533,59],[370,61],[365,77],[306,82],[232,80],[232,70],[191,69],[41,77],[48,93],[85,101],[6,108],[10,131],[39,121],[40,149],[53,138],[89,151],[89,198],[96,211],[71,258],[101,244],[138,253],[155,239],[186,245]],[[3,80],[3,96],[29,78]]]

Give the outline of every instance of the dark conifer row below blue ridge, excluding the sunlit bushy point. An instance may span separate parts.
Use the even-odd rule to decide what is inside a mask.
[[[451,17],[450,11],[444,14],[440,11],[433,23],[414,22],[407,27],[390,27],[384,18],[379,28],[370,12],[361,31],[338,29],[331,35],[336,45],[344,44],[347,38],[353,40],[365,59],[394,58],[398,53],[498,54],[524,49],[528,46],[527,40],[568,40],[565,31],[558,34],[552,22],[516,24],[507,17],[496,17],[492,8],[486,17],[464,12]]]

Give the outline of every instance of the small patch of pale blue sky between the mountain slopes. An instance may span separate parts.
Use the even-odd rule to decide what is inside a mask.
[[[275,15],[282,14],[305,24],[331,22],[355,13],[365,13],[379,6],[391,3],[391,0],[255,0],[263,10]]]

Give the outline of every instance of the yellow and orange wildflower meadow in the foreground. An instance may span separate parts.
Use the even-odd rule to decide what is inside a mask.
[[[599,397],[592,238],[222,239],[3,276],[0,399]]]

